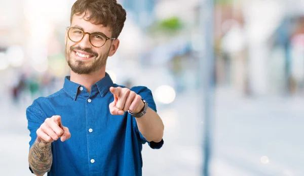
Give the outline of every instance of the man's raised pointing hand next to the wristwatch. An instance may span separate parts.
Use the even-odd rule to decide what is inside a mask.
[[[141,96],[128,88],[110,87],[110,92],[114,96],[114,101],[109,104],[112,115],[123,115],[128,110],[138,113],[144,107]]]

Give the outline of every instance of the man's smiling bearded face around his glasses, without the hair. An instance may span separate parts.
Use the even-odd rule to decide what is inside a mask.
[[[85,17],[86,18],[86,17]],[[74,15],[71,27],[80,27],[84,32],[101,32],[107,37],[111,37],[109,27],[95,25],[84,20],[83,15]],[[90,74],[94,73],[106,65],[108,55],[113,55],[118,47],[112,40],[107,40],[102,47],[94,47],[89,40],[89,35],[85,34],[84,38],[79,42],[71,41],[65,33],[65,56],[66,61],[74,73]],[[114,45],[111,47],[111,45]],[[113,51],[114,49],[114,51]],[[111,52],[111,53],[110,53]]]

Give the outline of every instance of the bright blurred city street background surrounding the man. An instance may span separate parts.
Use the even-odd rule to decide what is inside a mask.
[[[31,175],[25,109],[69,74],[74,2],[0,0],[1,175]],[[143,147],[143,175],[304,175],[304,1],[119,2],[107,73],[151,89],[165,124],[163,148]]]

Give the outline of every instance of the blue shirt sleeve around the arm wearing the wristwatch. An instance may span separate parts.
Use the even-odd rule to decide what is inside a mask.
[[[152,92],[150,89],[148,89],[147,87],[144,87],[144,86],[137,86],[137,87],[132,87],[131,90],[134,91],[135,93],[139,94],[141,96],[141,98],[144,99],[148,103],[148,107],[157,112],[156,104],[155,104],[155,101],[154,101],[154,98],[153,98],[153,95],[152,95]],[[163,146],[163,144],[164,144],[163,139],[160,142],[154,142],[154,141],[148,142],[143,137],[143,135],[140,133],[140,131],[137,127],[135,118],[133,116],[131,116],[131,118],[133,118],[132,119],[133,128],[137,134],[137,137],[138,137],[140,143],[142,143],[142,144],[148,143],[150,148],[153,148],[153,149],[160,149]]]

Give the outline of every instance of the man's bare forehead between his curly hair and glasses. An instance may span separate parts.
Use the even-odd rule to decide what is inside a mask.
[[[72,21],[71,21],[71,26],[78,26],[81,27],[85,32],[102,32],[107,36],[111,35],[111,30],[110,28],[104,27],[102,24],[96,25],[91,23],[90,21],[87,21],[86,19],[89,17],[90,14],[85,14],[82,15],[73,15]]]

